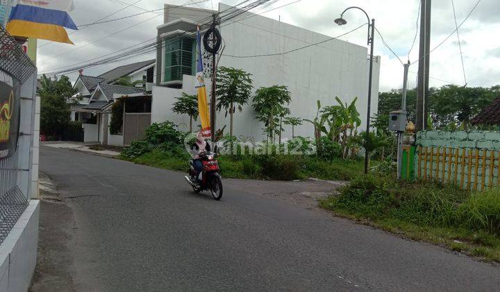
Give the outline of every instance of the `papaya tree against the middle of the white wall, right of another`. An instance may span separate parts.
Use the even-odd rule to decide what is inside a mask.
[[[292,97],[286,86],[261,87],[253,97],[253,111],[256,112],[256,120],[264,122],[267,142],[274,140],[278,133],[279,119],[290,115],[290,109],[285,104],[290,104]]]

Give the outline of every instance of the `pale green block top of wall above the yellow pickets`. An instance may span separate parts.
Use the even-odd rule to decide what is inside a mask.
[[[498,131],[420,131],[417,145],[500,150]]]

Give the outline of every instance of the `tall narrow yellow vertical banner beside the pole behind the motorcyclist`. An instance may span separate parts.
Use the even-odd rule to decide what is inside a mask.
[[[210,114],[208,113],[208,104],[206,99],[205,80],[203,79],[203,61],[201,59],[201,35],[199,26],[197,31],[197,81],[196,88],[198,90],[198,113],[201,120],[201,133],[203,137],[210,137]]]

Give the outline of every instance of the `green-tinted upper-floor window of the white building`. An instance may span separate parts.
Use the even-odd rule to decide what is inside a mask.
[[[165,55],[163,58],[163,82],[181,81],[183,74],[194,75],[196,58],[192,38],[171,38],[163,41]]]

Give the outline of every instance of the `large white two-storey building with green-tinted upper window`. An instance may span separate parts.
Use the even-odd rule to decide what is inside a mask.
[[[219,5],[219,11],[231,6]],[[189,117],[172,113],[175,97],[181,92],[195,94],[195,35],[198,23],[204,24],[213,15],[211,10],[165,5],[165,24],[158,26],[156,86],[153,86],[151,122],[170,120],[187,130]],[[203,28],[202,28],[203,29]],[[222,24],[220,29],[225,48],[219,67],[240,68],[253,74],[254,90],[261,86],[284,85],[292,93],[290,111],[293,117],[312,119],[317,100],[323,106],[335,105],[335,96],[350,103],[358,97],[358,111],[367,116],[369,57],[367,48],[343,40],[301,29],[253,13],[244,13]],[[326,40],[326,42],[322,42]],[[321,44],[316,44],[322,42]],[[306,47],[310,44],[310,47]],[[306,47],[303,49],[299,49]],[[297,51],[292,51],[296,50]],[[279,54],[288,52],[288,54]],[[251,57],[276,54],[273,56]],[[371,115],[378,108],[378,76],[380,58],[374,59]],[[206,80],[206,81],[209,81]],[[206,82],[210,83],[210,82]],[[207,84],[207,91],[210,84]],[[254,120],[251,101],[243,111],[235,113],[234,134],[238,138],[264,140],[263,124]],[[216,128],[229,128],[224,112],[217,115]],[[365,123],[360,129],[364,129]],[[226,131],[227,133],[227,131]],[[296,127],[296,135],[313,136],[313,127]],[[290,138],[286,129],[283,138]]]

